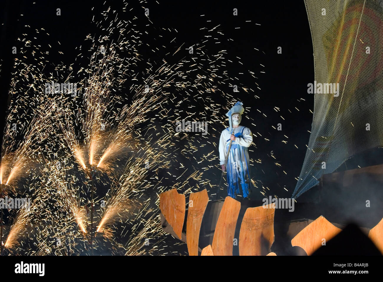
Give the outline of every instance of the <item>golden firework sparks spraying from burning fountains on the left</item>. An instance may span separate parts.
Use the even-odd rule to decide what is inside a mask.
[[[126,7],[123,12],[128,13]],[[153,25],[145,25],[137,30],[132,25],[137,18],[135,11],[131,13],[131,20],[119,20],[117,13],[114,15],[113,9],[107,7],[100,14],[101,20],[95,22],[106,35],[100,31],[100,36],[88,35],[83,42],[84,46],[90,44],[88,50],[80,50],[81,54],[87,53],[86,62],[79,59],[69,66],[55,64],[51,72],[42,71],[50,67],[46,64],[49,52],[33,45],[33,34],[21,38],[29,42],[21,51],[26,60],[32,58],[27,49],[47,59],[37,67],[16,61],[17,72],[12,80],[11,93],[26,94],[11,101],[7,124],[21,116],[23,126],[19,131],[10,126],[5,130],[0,183],[15,192],[25,185],[20,184],[23,175],[32,177],[34,184],[27,193],[34,197],[34,207],[14,217],[5,242],[8,249],[28,241],[22,238],[32,224],[31,240],[37,242],[37,250],[20,249],[20,253],[88,253],[93,223],[90,212],[98,221],[97,233],[102,233],[116,252],[124,249],[127,255],[143,254],[145,239],[164,235],[157,194],[169,187],[187,194],[204,188],[213,191],[217,186],[213,183],[214,173],[203,173],[217,167],[216,143],[205,136],[176,132],[175,122],[205,120],[215,138],[224,127],[224,107],[237,101],[237,94],[228,89],[238,85],[249,97],[260,99],[255,95],[260,87],[253,90],[241,85],[237,74],[229,74],[230,64],[242,63],[219,48],[218,41],[229,40],[219,25],[201,28],[203,36],[193,45],[194,54],[185,56],[183,43],[176,43],[175,29],[157,31]],[[161,39],[166,32],[169,34],[165,37],[174,40],[164,43],[169,46],[145,44],[148,35],[144,29],[150,28],[150,36],[158,32],[157,39]],[[147,46],[157,50],[152,54],[154,59]],[[253,79],[254,74],[247,71],[241,76]],[[33,85],[27,81],[33,81]],[[43,86],[50,81],[77,81],[78,95],[45,94]],[[272,107],[277,117],[282,111],[281,107]],[[262,120],[270,119],[271,114],[258,112]],[[256,126],[255,120],[250,122]],[[259,136],[269,136],[265,130],[259,131]],[[23,138],[16,138],[18,135]],[[261,140],[267,142],[271,137]],[[276,151],[270,159],[274,167],[285,172]],[[260,160],[255,162],[262,164]],[[39,169],[28,170],[31,163],[39,163]],[[95,207],[93,198],[90,200],[90,181],[95,198],[105,199],[105,207]],[[256,186],[256,181],[251,181]],[[267,190],[259,188],[262,195]],[[119,238],[115,237],[117,231]],[[127,243],[116,242],[126,237]],[[102,248],[98,245],[101,239],[97,240],[96,245]],[[152,251],[158,251],[154,245]]]

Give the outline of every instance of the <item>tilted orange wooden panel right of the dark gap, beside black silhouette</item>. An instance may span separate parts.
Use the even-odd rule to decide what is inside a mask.
[[[332,225],[326,218],[319,216],[306,226],[291,240],[292,246],[300,246],[308,256],[322,246],[323,239],[326,242],[338,234],[341,229]]]

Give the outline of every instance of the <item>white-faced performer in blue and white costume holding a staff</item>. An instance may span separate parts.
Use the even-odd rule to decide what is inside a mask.
[[[249,200],[250,194],[250,163],[247,148],[253,142],[253,135],[249,128],[240,126],[241,115],[244,112],[242,102],[237,102],[226,114],[229,117],[229,127],[224,129],[219,140],[219,160],[225,171],[225,158],[230,140],[232,140],[227,163],[228,195],[236,198],[240,193],[241,183],[243,197]],[[234,132],[234,134],[231,134]]]

